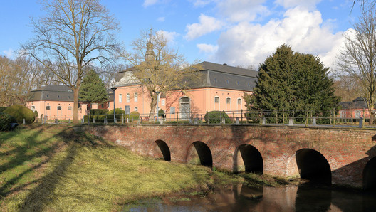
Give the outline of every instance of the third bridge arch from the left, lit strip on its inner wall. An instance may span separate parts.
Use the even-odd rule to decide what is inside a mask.
[[[241,144],[234,154],[234,172],[254,172],[263,174],[263,157],[251,144]]]

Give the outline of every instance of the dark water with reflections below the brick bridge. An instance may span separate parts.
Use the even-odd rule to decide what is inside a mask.
[[[123,211],[376,211],[376,195],[314,186],[238,185],[205,196],[142,201],[137,206],[125,206]]]

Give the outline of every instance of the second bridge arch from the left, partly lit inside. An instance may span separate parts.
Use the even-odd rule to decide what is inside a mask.
[[[201,164],[202,166],[213,166],[213,157],[210,148],[204,142],[193,142],[187,149],[186,161],[189,164]]]

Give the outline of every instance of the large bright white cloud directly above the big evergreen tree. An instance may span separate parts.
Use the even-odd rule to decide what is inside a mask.
[[[276,51],[283,43],[294,51],[319,55],[325,66],[331,66],[343,43],[342,32],[332,33],[319,11],[301,7],[289,9],[282,19],[265,25],[241,22],[221,33],[217,62],[233,65],[256,65]]]

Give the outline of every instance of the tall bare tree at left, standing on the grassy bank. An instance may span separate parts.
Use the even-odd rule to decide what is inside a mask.
[[[35,37],[21,47],[73,90],[73,123],[86,65],[113,58],[118,24],[99,0],[42,0],[46,16],[31,20]]]

